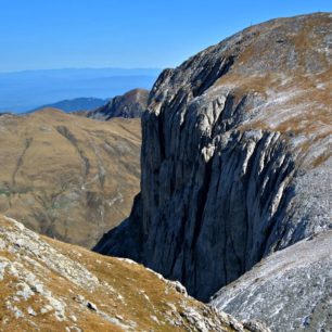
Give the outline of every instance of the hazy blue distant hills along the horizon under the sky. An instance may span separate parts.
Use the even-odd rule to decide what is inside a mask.
[[[151,89],[161,72],[158,68],[68,68],[0,73],[0,112],[24,113],[59,101],[62,110],[71,112],[78,110],[77,106],[68,110],[63,105],[73,99],[89,104],[88,99],[98,107],[105,99],[128,90]]]

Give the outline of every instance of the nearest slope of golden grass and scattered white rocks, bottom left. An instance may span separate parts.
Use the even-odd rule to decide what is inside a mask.
[[[0,295],[1,331],[269,331],[216,312],[131,260],[37,235],[2,216]]]

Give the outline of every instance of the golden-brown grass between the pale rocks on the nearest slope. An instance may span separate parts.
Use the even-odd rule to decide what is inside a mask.
[[[11,265],[24,266],[25,271],[35,276],[29,280],[42,283],[43,290],[51,292],[53,298],[65,304],[63,320],[56,318],[54,309],[41,314],[41,309],[49,304],[46,293],[35,292],[24,299],[16,292],[20,282],[26,282],[24,279],[26,273],[18,272],[13,277],[10,266],[7,266],[0,270],[0,276],[3,273],[3,279],[0,281],[2,298],[0,331],[35,331],[36,327],[39,331],[65,331],[66,328],[73,329],[73,327],[87,332],[123,331],[119,323],[128,325],[130,322],[136,324],[132,331],[197,331],[183,314],[187,308],[192,308],[200,315],[208,315],[214,320],[216,314],[208,310],[204,304],[177,292],[171,283],[158,278],[141,265],[102,256],[43,235],[37,240],[36,237],[30,238],[33,240],[27,246],[24,244],[17,246],[15,240],[9,240],[13,237],[7,237],[7,233],[16,233],[18,239],[27,239],[26,237],[31,234],[2,216],[0,216],[0,241],[7,243],[7,247],[2,246],[0,250],[0,261],[7,260]],[[56,255],[65,257],[59,261],[66,267],[65,272],[63,269],[54,268],[53,265],[48,265],[48,261],[54,261],[54,250]],[[47,260],[40,255],[46,255],[43,258]],[[98,278],[98,282],[94,282],[92,288],[77,283],[73,278],[75,270],[74,273],[69,270],[73,266],[66,265],[66,259],[78,264],[79,267],[75,267],[77,269],[84,267]],[[98,308],[97,311],[78,301],[78,296],[93,303]],[[8,306],[9,303],[11,306]],[[13,306],[23,312],[22,317],[14,316]],[[28,307],[35,310],[35,316],[28,315]],[[116,318],[117,322],[112,321],[113,318]],[[170,320],[178,319],[182,321],[181,325],[170,324]],[[222,322],[222,324],[225,331],[233,331],[230,323]]]

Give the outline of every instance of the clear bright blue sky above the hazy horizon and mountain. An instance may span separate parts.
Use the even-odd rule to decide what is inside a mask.
[[[331,0],[0,0],[0,72],[169,67],[251,25]]]

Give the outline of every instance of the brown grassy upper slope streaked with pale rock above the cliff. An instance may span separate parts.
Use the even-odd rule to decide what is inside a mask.
[[[250,27],[226,51],[237,54],[237,61],[214,87],[230,87],[235,102],[253,94],[266,101],[240,130],[278,130],[309,140],[331,135],[332,67],[325,37],[332,18],[316,14],[302,17],[296,26],[292,22],[280,18],[264,28]]]

